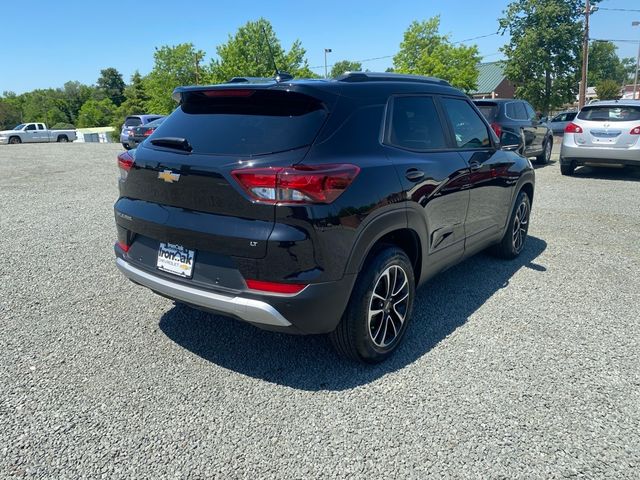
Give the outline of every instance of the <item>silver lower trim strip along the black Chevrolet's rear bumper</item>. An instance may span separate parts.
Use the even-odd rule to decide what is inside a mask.
[[[230,314],[250,323],[278,327],[291,326],[291,323],[280,312],[260,300],[222,295],[172,282],[140,270],[122,258],[116,259],[116,266],[129,280],[178,301]]]

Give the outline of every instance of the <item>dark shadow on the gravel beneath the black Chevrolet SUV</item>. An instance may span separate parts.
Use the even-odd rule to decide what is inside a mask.
[[[427,354],[505,288],[521,268],[544,275],[546,268],[534,260],[546,246],[544,240],[529,237],[515,260],[479,254],[429,281],[416,296],[404,344],[381,365],[360,365],[338,357],[326,336],[267,332],[183,305],[162,316],[160,329],[203,359],[243,375],[308,391],[350,389]]]

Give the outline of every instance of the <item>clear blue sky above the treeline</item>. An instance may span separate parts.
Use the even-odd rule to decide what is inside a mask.
[[[261,16],[273,24],[282,45],[300,39],[309,65],[324,71],[328,63],[363,60],[396,53],[402,35],[416,19],[441,16],[441,30],[453,41],[496,32],[497,18],[508,0],[419,1],[324,0],[88,2],[34,0],[3,2],[0,28],[2,62],[0,92],[21,93],[60,87],[67,80],[92,84],[100,69],[117,68],[128,81],[137,69],[148,73],[154,47],[192,42],[215,55],[215,47],[249,20]],[[600,7],[640,10],[638,0],[603,0]],[[13,20],[11,20],[13,19]],[[640,40],[631,21],[640,12],[601,10],[592,16],[592,38]],[[505,37],[493,35],[476,43],[485,61],[501,58]],[[637,43],[617,43],[620,56],[635,57]],[[370,70],[391,66],[391,58],[363,63]]]

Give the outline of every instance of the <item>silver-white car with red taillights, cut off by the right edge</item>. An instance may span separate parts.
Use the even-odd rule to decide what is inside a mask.
[[[640,166],[640,101],[594,102],[580,110],[564,130],[560,170],[580,165]]]

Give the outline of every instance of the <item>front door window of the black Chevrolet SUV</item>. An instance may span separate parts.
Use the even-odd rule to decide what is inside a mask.
[[[491,146],[487,126],[466,100],[443,98],[442,104],[459,148]]]

